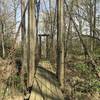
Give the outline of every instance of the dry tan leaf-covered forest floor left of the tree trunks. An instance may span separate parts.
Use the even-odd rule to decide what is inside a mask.
[[[0,100],[22,100],[22,94],[14,88],[14,64],[0,58]]]

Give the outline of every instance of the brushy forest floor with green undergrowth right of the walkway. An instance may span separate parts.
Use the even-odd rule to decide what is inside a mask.
[[[92,68],[81,60],[71,60],[65,67],[65,100],[100,100],[100,79]]]

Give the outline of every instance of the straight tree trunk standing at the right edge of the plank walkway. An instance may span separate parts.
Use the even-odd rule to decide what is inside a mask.
[[[64,88],[63,0],[57,0],[57,78]]]

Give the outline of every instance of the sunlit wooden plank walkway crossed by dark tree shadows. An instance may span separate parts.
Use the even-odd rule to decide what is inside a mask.
[[[30,100],[64,100],[52,66],[50,64],[45,67],[45,64],[42,65],[43,63],[40,63],[40,67],[37,69]]]

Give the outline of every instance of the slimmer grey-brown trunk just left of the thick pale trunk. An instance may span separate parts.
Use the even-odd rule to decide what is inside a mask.
[[[25,9],[25,0],[21,0],[21,17],[23,17]],[[26,86],[26,76],[27,73],[27,44],[26,44],[26,29],[25,29],[25,16],[22,19],[21,27],[21,38],[22,38],[22,73],[21,73],[21,83]],[[24,83],[25,82],[25,83]]]

